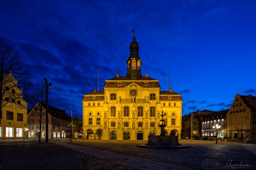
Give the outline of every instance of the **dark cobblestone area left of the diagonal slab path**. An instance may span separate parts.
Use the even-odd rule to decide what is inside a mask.
[[[136,170],[97,156],[81,153],[54,143],[0,145],[1,170]]]

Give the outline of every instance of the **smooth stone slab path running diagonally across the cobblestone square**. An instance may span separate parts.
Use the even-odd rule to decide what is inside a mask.
[[[73,150],[76,150],[76,151],[79,151],[79,152],[91,154],[91,155],[94,155],[94,156],[99,156],[99,157],[111,160],[113,162],[118,162],[118,163],[130,165],[130,166],[140,168],[140,169],[150,170],[152,168],[154,170],[158,170],[158,169],[159,170],[164,170],[164,169],[167,169],[167,170],[169,170],[169,169],[170,170],[185,170],[185,168],[170,166],[170,165],[157,163],[157,162],[152,162],[152,161],[146,161],[146,160],[143,160],[143,159],[133,158],[133,157],[130,157],[130,156],[125,156],[125,155],[119,155],[119,154],[115,154],[115,153],[111,153],[111,152],[106,152],[106,151],[102,151],[102,150],[98,150],[98,149],[92,149],[92,148],[79,146],[79,145],[74,145],[74,144],[70,144],[70,143],[56,142],[56,144],[61,145],[61,146],[65,146],[67,148],[70,148],[70,149],[73,149]]]

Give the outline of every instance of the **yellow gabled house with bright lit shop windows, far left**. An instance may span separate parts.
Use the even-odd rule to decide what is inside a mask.
[[[12,75],[10,75],[12,76]],[[2,108],[0,139],[25,139],[27,137],[27,103],[23,100],[20,89],[13,84],[3,86],[7,90],[3,96],[9,102]],[[5,104],[5,102],[3,103]]]

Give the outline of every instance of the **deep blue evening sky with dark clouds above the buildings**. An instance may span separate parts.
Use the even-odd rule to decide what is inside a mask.
[[[49,104],[82,115],[83,94],[126,75],[133,27],[142,75],[180,93],[183,115],[256,95],[256,1],[0,1],[0,36]],[[194,101],[194,104],[193,102]]]

